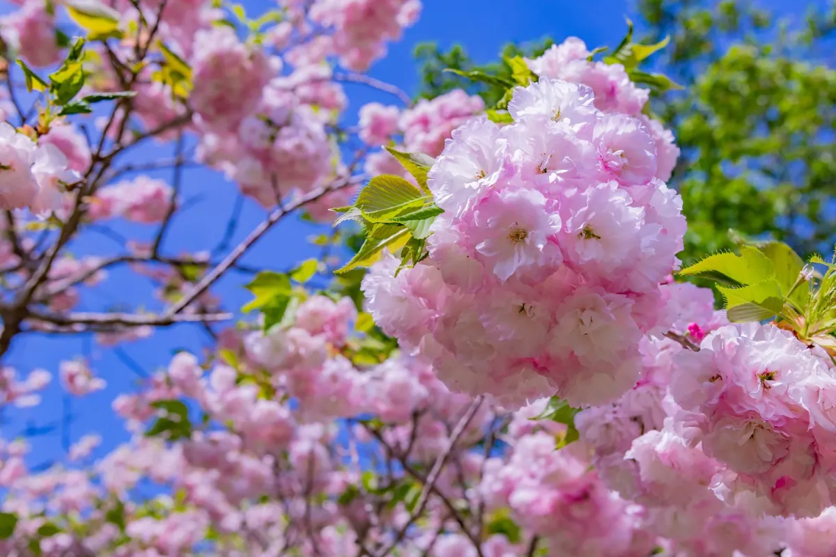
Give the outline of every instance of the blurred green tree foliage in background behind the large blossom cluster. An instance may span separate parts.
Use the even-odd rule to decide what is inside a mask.
[[[752,0],[637,0],[632,13],[642,43],[670,35],[650,66],[685,86],[651,99],[682,149],[670,185],[681,192],[688,216],[683,259],[732,248],[730,230],[786,241],[804,255],[832,251],[836,0],[813,3],[792,18],[777,18]],[[419,96],[461,88],[495,104],[502,90],[444,68],[510,77],[502,60],[536,57],[564,38],[508,45],[496,62],[481,65],[461,46],[421,44]]]

